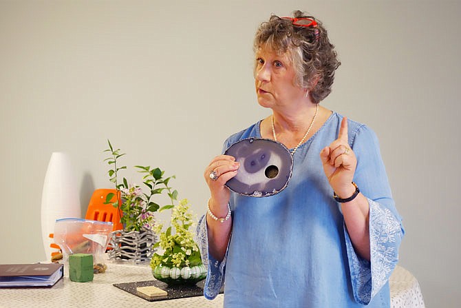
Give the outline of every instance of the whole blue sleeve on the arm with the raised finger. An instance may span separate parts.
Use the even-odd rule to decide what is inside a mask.
[[[369,203],[370,261],[356,254],[344,225],[347,258],[356,302],[367,305],[387,283],[398,262],[405,233],[380,156],[376,135],[365,125],[349,134],[357,157],[354,182]]]

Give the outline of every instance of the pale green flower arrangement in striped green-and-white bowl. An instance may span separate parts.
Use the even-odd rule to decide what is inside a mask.
[[[197,243],[189,229],[195,225],[189,201],[182,199],[171,212],[171,225],[164,229],[158,223],[153,229],[160,240],[154,247],[160,247],[151,258],[153,276],[168,284],[197,283],[206,277]]]

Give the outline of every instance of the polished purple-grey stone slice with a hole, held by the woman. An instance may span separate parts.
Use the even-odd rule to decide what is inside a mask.
[[[226,155],[240,163],[237,175],[227,181],[233,192],[245,196],[266,197],[281,192],[290,181],[293,158],[277,141],[248,138],[230,145]]]

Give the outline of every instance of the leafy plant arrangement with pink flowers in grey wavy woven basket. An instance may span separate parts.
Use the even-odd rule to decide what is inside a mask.
[[[109,153],[105,158],[110,167],[107,173],[115,185],[116,192],[107,194],[105,204],[118,208],[120,222],[123,225],[122,230],[116,230],[111,234],[108,245],[109,258],[135,262],[149,260],[153,254],[153,244],[156,243],[156,234],[153,232],[156,225],[154,213],[173,208],[178,198],[178,191],[169,186],[169,181],[175,176],[164,177],[164,171],[158,167],[136,165],[136,170],[143,174],[142,183],[147,192],[144,192],[142,187],[129,183],[126,178],[120,183],[118,172],[126,170],[127,167],[118,165],[118,159],[125,153],[121,153],[120,149],[114,149],[109,140],[107,143],[109,148],[104,151]],[[164,192],[167,192],[171,204],[160,207],[154,201],[154,197]],[[117,198],[114,198],[116,195]]]

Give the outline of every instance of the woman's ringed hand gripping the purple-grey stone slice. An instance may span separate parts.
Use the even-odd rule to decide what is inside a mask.
[[[211,194],[210,203],[215,207],[222,208],[224,212],[227,212],[227,203],[230,198],[229,189],[224,184],[237,174],[239,165],[233,156],[219,155],[213,158],[204,172],[205,181]],[[212,172],[215,172],[217,176],[215,180],[210,177]]]

